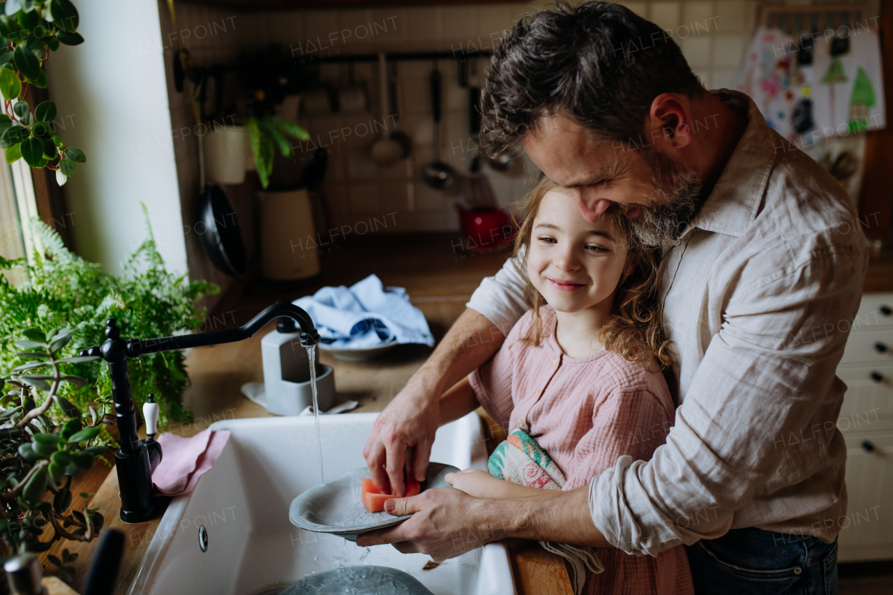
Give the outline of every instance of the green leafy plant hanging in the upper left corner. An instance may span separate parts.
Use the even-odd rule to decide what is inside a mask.
[[[24,159],[34,168],[56,172],[62,186],[87,156],[77,147],[67,147],[53,128],[56,105],[44,101],[33,110],[25,99],[28,86],[46,88],[43,63],[60,44],[77,46],[84,42],[77,32],[78,9],[70,0],[6,0],[0,3],[0,93],[4,113],[0,113],[0,148],[6,163]]]

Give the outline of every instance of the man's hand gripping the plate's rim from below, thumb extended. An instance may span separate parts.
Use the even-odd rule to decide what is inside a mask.
[[[385,502],[389,515],[413,515],[412,518],[361,535],[356,538],[356,545],[368,548],[391,543],[404,554],[428,554],[435,562],[443,562],[506,536],[506,527],[486,518],[488,512],[494,512],[493,502],[453,488],[426,490],[413,498],[390,499]]]

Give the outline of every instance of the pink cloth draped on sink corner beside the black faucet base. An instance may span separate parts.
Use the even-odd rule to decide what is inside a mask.
[[[164,433],[158,437],[162,445],[162,462],[152,473],[155,490],[163,496],[182,496],[194,490],[198,478],[211,470],[230,440],[229,430],[214,432],[210,428],[192,438]]]

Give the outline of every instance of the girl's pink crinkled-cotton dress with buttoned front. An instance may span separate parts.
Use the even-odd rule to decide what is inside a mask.
[[[672,426],[675,406],[657,366],[599,351],[565,356],[555,340],[555,312],[540,308],[538,347],[524,340],[531,312],[514,325],[496,356],[469,377],[480,404],[506,432],[521,428],[561,469],[563,490],[589,480],[629,455],[651,458]],[[642,527],[647,531],[647,527]],[[603,574],[591,574],[589,595],[688,595],[694,593],[681,546],[657,557],[597,549]]]

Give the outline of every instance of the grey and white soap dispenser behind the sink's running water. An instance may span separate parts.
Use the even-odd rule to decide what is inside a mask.
[[[282,317],[276,330],[261,339],[263,392],[271,414],[300,415],[313,405],[310,360],[300,334],[294,320]],[[335,406],[335,372],[330,365],[319,363],[319,354],[316,360],[316,396],[320,410],[328,411]]]

